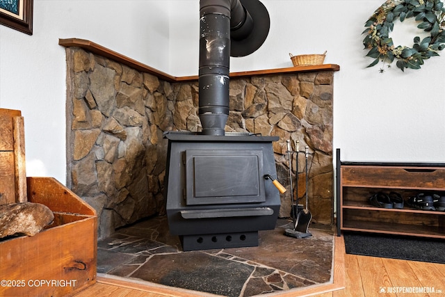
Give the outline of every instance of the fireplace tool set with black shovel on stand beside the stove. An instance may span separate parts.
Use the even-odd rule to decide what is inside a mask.
[[[289,150],[289,148],[288,148]],[[298,176],[298,146],[297,146],[297,176]],[[309,156],[309,147],[306,146],[306,152],[305,152],[305,158],[306,158],[306,208],[303,209],[302,211],[298,211],[296,220],[294,221],[294,227],[293,229],[286,229],[284,231],[284,235],[286,236],[290,236],[290,237],[294,237],[297,239],[301,239],[301,238],[305,238],[305,237],[309,237],[312,236],[312,234],[308,231],[309,228],[309,223],[311,223],[312,220],[312,214],[309,211],[308,207],[307,207],[307,202],[308,202],[308,169],[307,169],[307,159]],[[291,165],[290,165],[291,166]],[[297,179],[297,187],[298,187],[298,179]],[[291,189],[292,191],[292,189]],[[298,191],[297,191],[297,195],[298,195]],[[298,201],[298,198],[297,198]],[[292,204],[293,204],[293,198],[292,198]],[[292,205],[293,207],[293,205]]]

